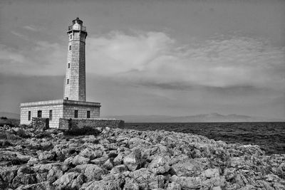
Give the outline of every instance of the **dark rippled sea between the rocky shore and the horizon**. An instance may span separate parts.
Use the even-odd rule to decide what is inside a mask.
[[[125,129],[200,134],[227,143],[257,144],[266,154],[285,154],[285,122],[125,123]]]

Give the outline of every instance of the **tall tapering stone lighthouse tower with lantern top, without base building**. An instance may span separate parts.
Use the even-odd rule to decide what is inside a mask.
[[[83,21],[76,18],[68,26],[68,58],[64,97],[66,100],[86,101],[85,41],[87,36]]]

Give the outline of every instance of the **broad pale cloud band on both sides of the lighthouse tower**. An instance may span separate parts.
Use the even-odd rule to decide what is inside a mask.
[[[21,33],[14,33],[21,36]],[[0,46],[2,73],[62,75],[66,47],[31,41]],[[163,32],[113,31],[86,40],[86,70],[130,85],[162,89],[255,88],[285,90],[285,48],[263,38],[215,36],[183,44]]]

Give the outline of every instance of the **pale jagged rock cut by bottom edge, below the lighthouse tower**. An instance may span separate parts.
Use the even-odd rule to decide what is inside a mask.
[[[84,176],[76,171],[63,174],[61,178],[53,182],[56,189],[79,189],[84,182]]]

